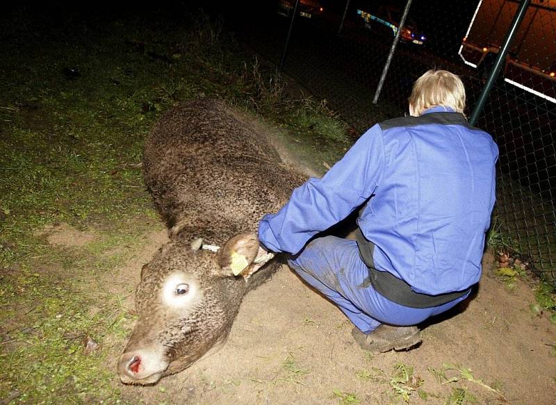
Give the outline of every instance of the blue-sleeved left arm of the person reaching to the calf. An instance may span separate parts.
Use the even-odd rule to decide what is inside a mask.
[[[259,241],[270,251],[297,254],[313,235],[343,220],[373,194],[383,167],[382,131],[375,125],[322,179],[309,179],[278,213],[265,215]]]

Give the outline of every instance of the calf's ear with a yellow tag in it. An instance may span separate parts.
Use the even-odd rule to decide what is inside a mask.
[[[273,256],[259,246],[255,233],[240,233],[228,240],[218,252],[218,267],[224,276],[247,279]]]

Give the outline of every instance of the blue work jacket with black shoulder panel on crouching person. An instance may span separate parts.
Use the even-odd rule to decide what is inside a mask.
[[[259,240],[297,254],[368,201],[357,222],[377,270],[428,295],[464,290],[480,279],[497,158],[491,136],[447,107],[376,124],[322,179],[265,215]]]

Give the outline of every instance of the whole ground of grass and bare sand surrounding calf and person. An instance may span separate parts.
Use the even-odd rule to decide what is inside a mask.
[[[159,108],[201,94],[232,99],[245,92],[242,97],[252,99],[256,79],[245,76],[248,63],[245,72],[234,70],[237,61],[231,55],[237,51],[227,48],[227,39],[215,44],[215,38],[209,38],[195,45],[204,33],[220,29],[204,18],[199,21],[206,26],[201,24],[193,35],[172,28],[173,22],[158,24],[151,8],[145,20],[130,19],[130,25],[127,19],[112,19],[120,15],[117,7],[108,8],[108,20],[114,21],[108,25],[96,14],[81,24],[80,18],[70,17],[70,10],[60,13],[51,4],[44,15],[41,8],[15,8],[15,14],[7,10],[10,21],[2,20],[6,33],[0,35],[6,45],[1,47],[6,74],[0,76],[6,80],[0,138],[8,140],[3,156],[13,158],[0,167],[8,179],[8,192],[1,196],[7,202],[0,204],[0,248],[10,263],[8,255],[16,251],[13,257],[24,263],[0,268],[8,281],[1,308],[8,315],[0,322],[0,388],[5,388],[0,405],[97,404],[102,398],[104,404],[152,405],[556,404],[556,327],[546,314],[536,315],[530,308],[535,302],[532,281],[518,279],[515,288],[507,288],[494,275],[492,256],[486,257],[473,297],[420,325],[423,343],[408,352],[373,356],[363,351],[343,313],[283,266],[245,297],[220,351],[154,386],[122,385],[116,362],[126,344],[124,331],[129,335],[134,326],[127,313],[133,314],[140,269],[167,240],[161,224],[152,224],[150,211],[145,213],[142,203],[131,204],[145,197],[135,170],[138,140]],[[51,15],[56,16],[52,21]],[[174,17],[189,24],[187,15]],[[212,56],[218,53],[222,58]],[[251,49],[248,53],[252,58]],[[306,74],[313,73],[307,69]],[[245,88],[240,86],[243,81]],[[295,83],[288,83],[286,92],[304,99],[305,93],[297,90]],[[353,95],[350,105],[361,94]],[[354,120],[356,126],[368,124]],[[332,163],[319,155],[318,146],[302,154],[302,140],[262,124],[258,128],[269,134],[286,164],[307,175],[320,174]],[[38,146],[31,147],[35,143]],[[8,175],[16,170],[22,170],[22,176]],[[11,198],[15,188],[22,192]],[[115,204],[131,222],[135,233],[129,235],[113,235],[108,217],[103,217],[106,210],[96,209],[103,201],[120,198],[108,198],[113,192],[120,196],[120,188],[134,190],[122,193]],[[85,192],[88,189],[98,198]],[[27,219],[31,208],[36,213]],[[136,212],[139,216],[133,217]],[[41,228],[50,219],[56,224],[33,233],[41,237],[40,245],[29,249],[29,256],[20,256],[19,250],[25,252],[36,238],[19,237],[23,232],[18,226],[8,229],[2,222],[24,223],[26,229]],[[72,224],[58,223],[66,220]],[[137,242],[136,234],[147,228]],[[17,243],[4,242],[6,233],[13,233]],[[43,243],[54,249],[42,249]],[[89,261],[91,257],[98,263]],[[72,262],[79,262],[79,272],[72,272]],[[47,281],[51,286],[43,293]],[[90,305],[92,301],[97,305]],[[98,328],[92,337],[101,350],[83,354],[82,346],[90,340],[82,334],[89,327],[95,332]],[[104,367],[97,367],[106,352]],[[69,367],[72,364],[79,367]],[[106,370],[110,377],[105,377]],[[115,391],[105,389],[106,378]],[[25,389],[31,391],[33,385],[37,389],[26,396]]]

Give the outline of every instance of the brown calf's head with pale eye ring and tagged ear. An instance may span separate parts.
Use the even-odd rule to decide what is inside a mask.
[[[156,383],[227,338],[246,281],[266,252],[253,233],[234,236],[218,253],[199,247],[169,242],[143,266],[138,322],[117,364],[123,383]]]

